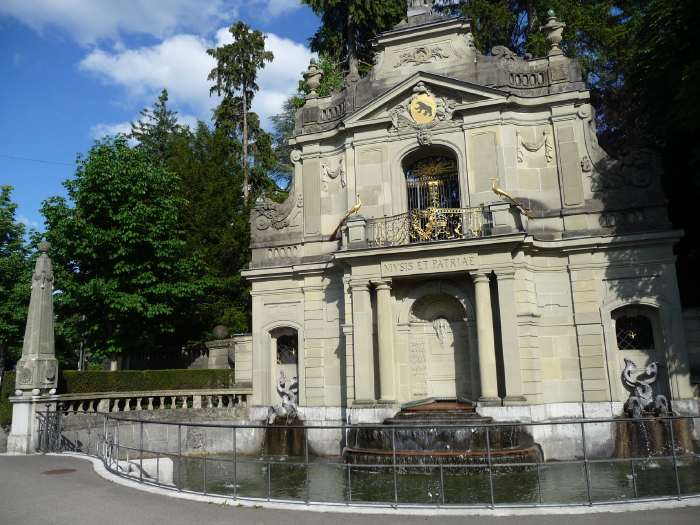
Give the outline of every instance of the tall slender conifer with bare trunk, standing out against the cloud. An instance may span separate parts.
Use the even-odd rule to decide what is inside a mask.
[[[266,62],[271,62],[274,56],[270,51],[265,50],[265,35],[262,32],[252,31],[243,22],[232,25],[229,32],[233,37],[231,44],[207,50],[207,53],[216,60],[216,67],[209,73],[208,80],[214,82],[210,88],[210,94],[216,93],[223,96],[222,106],[227,114],[235,114],[232,111],[234,105],[241,108],[243,196],[247,203],[250,193],[248,112],[253,96],[259,89],[256,82],[258,70],[264,68]]]

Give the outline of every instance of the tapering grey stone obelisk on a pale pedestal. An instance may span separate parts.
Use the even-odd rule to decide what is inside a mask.
[[[13,403],[12,430],[7,451],[15,454],[34,451],[37,407],[43,406],[48,396],[56,393],[58,381],[53,331],[53,268],[48,251],[48,243],[39,245],[22,357],[17,362],[15,397],[10,399]]]

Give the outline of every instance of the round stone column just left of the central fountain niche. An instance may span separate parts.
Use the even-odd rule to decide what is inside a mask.
[[[394,384],[394,323],[391,313],[390,281],[377,281],[377,342],[379,344],[379,399],[385,403],[396,400]]]

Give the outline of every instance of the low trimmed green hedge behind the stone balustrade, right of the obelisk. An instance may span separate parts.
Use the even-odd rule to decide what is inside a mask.
[[[64,370],[59,375],[58,393],[203,390],[230,388],[233,383],[233,370]]]

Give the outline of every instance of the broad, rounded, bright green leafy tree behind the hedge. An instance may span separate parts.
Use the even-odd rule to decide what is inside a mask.
[[[120,136],[95,143],[64,186],[68,200],[42,207],[58,317],[93,356],[176,346],[204,291],[196,258],[183,253],[178,178]]]

